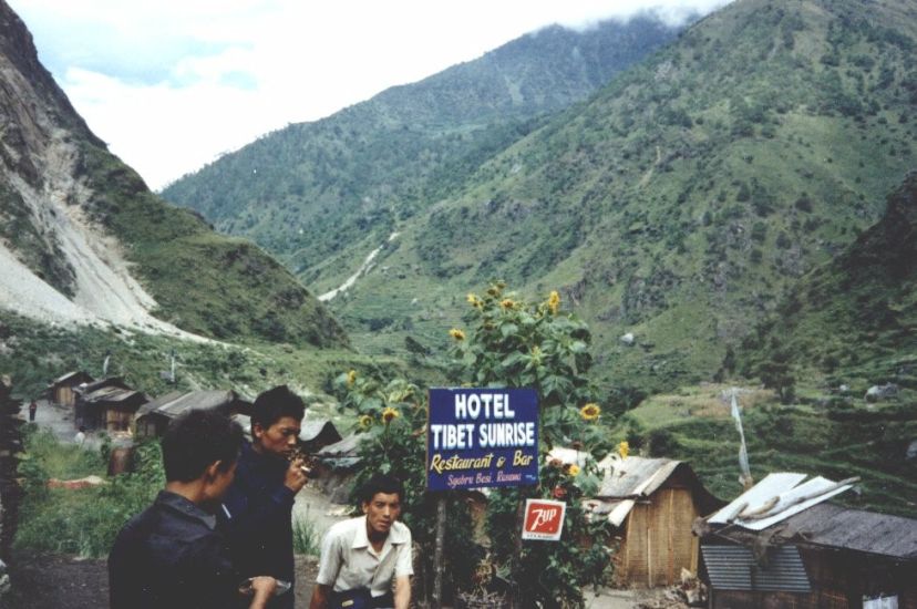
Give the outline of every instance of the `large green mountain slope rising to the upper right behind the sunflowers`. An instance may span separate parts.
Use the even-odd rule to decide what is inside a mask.
[[[490,277],[559,287],[616,386],[709,379],[917,165],[916,45],[903,0],[734,2],[405,221],[336,311],[391,349]]]

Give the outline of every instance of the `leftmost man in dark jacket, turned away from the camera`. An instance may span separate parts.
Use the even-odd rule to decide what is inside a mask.
[[[109,555],[112,609],[262,608],[276,581],[257,577],[249,602],[223,536],[215,530],[223,495],[233,482],[241,429],[213,411],[190,411],[163,437],[166,487],[132,518]]]

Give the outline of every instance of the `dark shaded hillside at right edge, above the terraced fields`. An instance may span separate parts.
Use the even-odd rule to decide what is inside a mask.
[[[917,389],[917,172],[888,196],[879,223],[800,281],[741,354],[750,373],[785,354],[797,376],[831,386]]]

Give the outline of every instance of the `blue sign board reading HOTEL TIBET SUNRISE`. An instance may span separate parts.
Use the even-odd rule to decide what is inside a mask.
[[[431,389],[426,426],[430,491],[538,483],[534,389]]]

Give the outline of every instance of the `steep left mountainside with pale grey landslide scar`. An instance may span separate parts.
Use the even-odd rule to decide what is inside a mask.
[[[278,262],[168,206],[111,155],[6,2],[0,72],[2,308],[66,323],[347,343]]]

